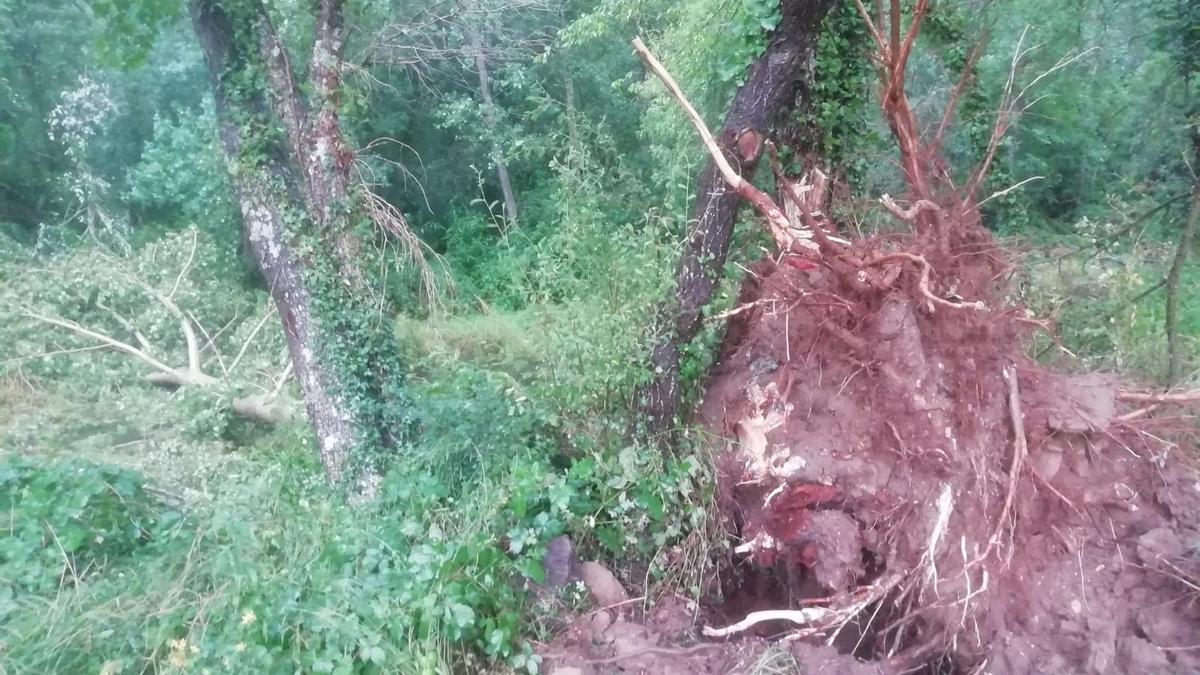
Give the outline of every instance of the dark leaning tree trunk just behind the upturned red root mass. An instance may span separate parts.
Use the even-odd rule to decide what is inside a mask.
[[[743,177],[754,174],[762,142],[806,95],[821,20],[834,0],[782,0],[782,17],[766,52],[750,66],[725,115],[718,142]],[[730,252],[742,198],[709,161],[700,174],[690,234],[676,269],[676,288],[659,313],[650,353],[652,380],[634,398],[638,431],[671,429],[679,408],[679,358],[700,329],[701,312],[713,298]]]

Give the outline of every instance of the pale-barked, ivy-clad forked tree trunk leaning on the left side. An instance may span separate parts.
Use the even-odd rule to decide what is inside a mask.
[[[190,0],[188,8],[246,239],[282,317],[322,464],[334,483],[370,479],[376,466],[362,452],[400,441],[407,406],[347,245],[349,156],[335,91],[341,2],[317,7],[316,121],[260,0]]]

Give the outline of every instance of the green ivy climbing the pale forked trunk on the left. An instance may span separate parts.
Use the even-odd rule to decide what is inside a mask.
[[[308,213],[299,196],[302,187],[296,184],[296,175],[304,172],[296,166],[301,159],[288,153],[282,120],[275,119],[266,106],[272,66],[258,48],[264,30],[262,8],[245,1],[227,1],[223,7],[238,46],[234,62],[221,74],[227,117],[238,133],[238,156],[230,159],[230,173],[269,177],[265,189],[281,214],[283,245],[299,261],[302,286],[311,300],[307,311],[313,339],[305,348],[312,350],[313,363],[319,364],[318,376],[332,386],[330,394],[340,412],[353,420],[354,438],[341,476],[353,479],[365,472],[380,473],[388,455],[407,443],[415,430],[404,393],[404,369],[390,345],[385,306],[371,301],[383,298],[378,280],[361,269],[346,269],[355,261],[332,255],[338,237],[370,241],[370,221],[360,216],[361,205],[352,197],[329,205],[334,216],[326,220],[337,223],[335,227],[320,226]]]

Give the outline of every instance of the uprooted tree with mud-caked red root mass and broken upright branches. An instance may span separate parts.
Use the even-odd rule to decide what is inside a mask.
[[[937,151],[947,125],[923,136],[905,91],[929,1],[856,5],[908,191],[880,201],[901,233],[841,234],[817,167],[803,180],[776,169],[784,204],[755,187],[635,42],[778,246],[727,312],[737,344],[701,419],[737,438],[720,486],[736,554],[808,585],[781,610],[706,633],[782,620],[896,671],[1196,668],[1200,494],[1159,432],[1177,418],[1157,413],[1200,394],[1026,357],[1022,338],[1050,327],[1007,304],[1009,263],[979,214],[1030,88],[1073,58],[1022,84],[1031,48],[1018,48],[984,156],[956,181]]]

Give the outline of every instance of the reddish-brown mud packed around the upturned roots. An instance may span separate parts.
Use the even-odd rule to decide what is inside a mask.
[[[954,265],[943,289],[998,297]],[[1200,477],[1118,381],[1026,359],[1018,309],[754,273],[701,417],[737,562],[834,610],[797,634],[887,671],[1200,669]]]

